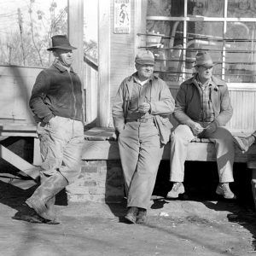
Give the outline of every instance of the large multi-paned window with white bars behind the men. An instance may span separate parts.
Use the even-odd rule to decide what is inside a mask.
[[[230,83],[256,81],[256,0],[148,0],[141,45],[156,56],[166,81],[188,79],[195,55],[207,50],[213,74]]]

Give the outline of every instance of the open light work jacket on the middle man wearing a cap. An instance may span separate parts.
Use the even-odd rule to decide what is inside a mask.
[[[134,84],[134,76],[124,79],[120,84],[119,90],[113,102],[112,116],[113,125],[116,131],[123,131],[125,127],[125,118],[128,113],[131,100],[131,91]],[[160,133],[160,142],[166,144],[170,140],[172,124],[169,115],[174,110],[174,99],[166,83],[153,75],[150,79],[152,83],[150,95],[150,113],[154,116],[154,123]]]

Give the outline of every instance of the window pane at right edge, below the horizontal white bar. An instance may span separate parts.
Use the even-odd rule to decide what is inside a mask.
[[[227,82],[255,82],[255,23],[229,22],[226,42],[225,79]]]

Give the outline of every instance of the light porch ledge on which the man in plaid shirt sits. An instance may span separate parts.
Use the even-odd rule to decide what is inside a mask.
[[[113,129],[94,127],[85,131],[84,137],[83,160],[119,160],[119,146]],[[164,148],[162,160],[169,159],[170,143],[167,143]],[[195,139],[189,143],[186,160],[216,161],[216,152],[213,143],[208,139]],[[253,144],[246,154],[242,154],[239,148],[236,147],[235,162],[247,163],[247,168],[252,170],[253,200],[256,207],[256,144]]]

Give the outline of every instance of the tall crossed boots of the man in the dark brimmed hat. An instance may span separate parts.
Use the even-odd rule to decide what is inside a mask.
[[[47,203],[52,205],[53,197],[67,186],[67,179],[57,172],[55,175],[48,177],[33,195],[26,200],[26,204],[33,208],[39,216],[49,221],[55,221],[55,214],[49,212]],[[49,201],[51,200],[51,201]]]

